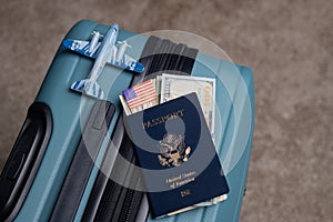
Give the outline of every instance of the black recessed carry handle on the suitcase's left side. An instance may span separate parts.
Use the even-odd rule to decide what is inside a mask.
[[[50,108],[34,102],[0,175],[0,221],[19,212],[36,176],[52,132]]]

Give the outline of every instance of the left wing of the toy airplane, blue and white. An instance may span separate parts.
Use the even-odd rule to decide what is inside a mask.
[[[62,46],[85,57],[95,58],[101,42],[97,42],[95,46],[92,46],[90,41],[67,39],[63,40]]]

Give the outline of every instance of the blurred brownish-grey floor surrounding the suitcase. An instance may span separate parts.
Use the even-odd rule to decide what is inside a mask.
[[[330,0],[1,0],[0,169],[74,22],[183,30],[254,72],[256,119],[241,221],[332,221],[332,11]]]

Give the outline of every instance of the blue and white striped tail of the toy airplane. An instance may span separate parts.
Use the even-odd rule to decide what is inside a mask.
[[[99,83],[91,81],[90,79],[75,81],[71,85],[71,90],[98,98],[100,100],[104,99],[104,92]]]

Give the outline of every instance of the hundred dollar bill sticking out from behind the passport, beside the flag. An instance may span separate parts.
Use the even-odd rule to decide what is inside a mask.
[[[214,137],[215,79],[189,75],[162,74],[160,103],[195,92],[206,124]]]

